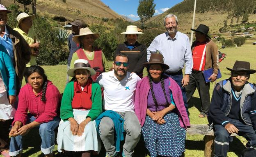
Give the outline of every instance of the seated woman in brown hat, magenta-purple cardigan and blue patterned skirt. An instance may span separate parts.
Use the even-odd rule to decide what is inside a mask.
[[[151,157],[179,157],[185,151],[185,129],[190,126],[181,89],[164,75],[169,66],[161,54],[151,54],[144,66],[148,76],[137,85],[135,113],[146,148]]]

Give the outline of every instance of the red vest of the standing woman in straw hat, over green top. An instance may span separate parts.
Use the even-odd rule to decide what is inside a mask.
[[[85,52],[83,49],[78,49],[76,51],[79,59],[85,59],[88,60],[91,68],[93,68],[96,71],[96,74],[91,76],[92,80],[95,82],[98,75],[104,72],[104,66],[102,63],[102,51],[101,49],[94,50],[94,59],[89,60],[87,56],[85,55]]]

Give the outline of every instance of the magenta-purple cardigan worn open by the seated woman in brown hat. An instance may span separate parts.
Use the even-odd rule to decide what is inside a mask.
[[[181,93],[181,88],[178,84],[169,77],[170,80],[170,90],[172,91],[172,96],[177,108],[176,114],[179,117],[179,122],[182,128],[190,127],[190,122],[187,116],[186,108],[184,106],[183,97]],[[139,81],[136,87],[135,93],[135,114],[139,119],[139,123],[143,126],[146,118],[146,110],[147,110],[147,97],[149,94],[150,85],[149,78],[144,77]]]

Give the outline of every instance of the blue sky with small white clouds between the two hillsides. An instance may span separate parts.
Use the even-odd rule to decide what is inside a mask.
[[[101,0],[110,9],[117,12],[119,15],[125,15],[128,18],[131,18],[135,21],[139,20],[139,16],[137,14],[137,8],[139,6],[139,0]],[[155,5],[155,14],[158,15],[175,4],[182,2],[183,0],[154,0]]]

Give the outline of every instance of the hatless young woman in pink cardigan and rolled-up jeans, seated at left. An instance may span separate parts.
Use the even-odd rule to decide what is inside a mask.
[[[39,127],[41,151],[46,157],[53,157],[54,130],[60,121],[57,110],[61,95],[57,87],[47,80],[40,66],[30,66],[25,72],[25,77],[28,83],[21,88],[18,95],[18,109],[9,133],[9,155],[21,157],[23,136],[29,133],[31,128]]]

